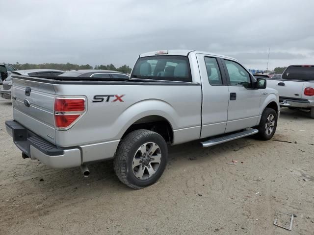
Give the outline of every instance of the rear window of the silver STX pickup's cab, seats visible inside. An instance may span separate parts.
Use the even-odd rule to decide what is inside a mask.
[[[131,78],[192,82],[186,56],[149,56],[139,58]]]

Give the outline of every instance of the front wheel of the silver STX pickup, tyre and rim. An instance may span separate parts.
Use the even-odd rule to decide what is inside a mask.
[[[257,137],[260,140],[268,141],[274,136],[277,128],[277,119],[278,117],[275,110],[271,108],[264,109],[260,125],[257,128],[259,130]]]

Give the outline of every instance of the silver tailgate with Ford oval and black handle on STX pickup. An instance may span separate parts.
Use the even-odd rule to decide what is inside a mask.
[[[55,143],[53,118],[54,89],[51,81],[27,80],[12,76],[13,117],[27,129]]]

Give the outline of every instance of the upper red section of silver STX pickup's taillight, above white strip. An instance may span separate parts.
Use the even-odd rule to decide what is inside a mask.
[[[84,110],[85,110],[84,99],[56,98],[54,101],[55,112],[72,112],[72,111],[84,111]]]

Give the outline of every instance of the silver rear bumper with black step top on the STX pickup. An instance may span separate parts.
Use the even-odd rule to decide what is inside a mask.
[[[60,148],[37,136],[16,121],[5,121],[5,127],[15,145],[31,159],[37,159],[52,168],[81,165],[79,148]]]

